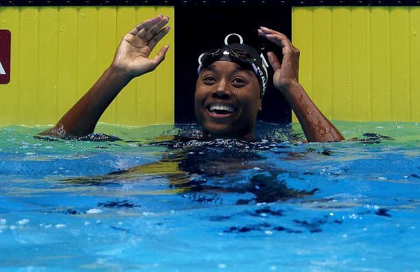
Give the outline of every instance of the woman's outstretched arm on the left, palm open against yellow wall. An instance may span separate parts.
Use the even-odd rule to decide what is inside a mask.
[[[169,17],[161,15],[140,23],[124,36],[113,62],[91,89],[58,121],[41,135],[56,137],[86,136],[93,133],[97,121],[109,104],[131,79],[156,69],[165,59],[169,45],[149,59],[156,43],[169,32],[164,27]]]

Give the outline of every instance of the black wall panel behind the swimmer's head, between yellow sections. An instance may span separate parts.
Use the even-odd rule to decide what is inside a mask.
[[[198,56],[224,44],[228,34],[240,34],[244,43],[265,55],[275,48],[257,35],[259,26],[270,27],[292,38],[292,8],[290,6],[257,5],[176,5],[175,6],[175,122],[193,123],[194,90],[197,79]],[[229,43],[235,42],[231,36]],[[231,40],[233,39],[233,40]],[[268,69],[268,88],[263,110],[258,119],[270,123],[290,123],[290,106],[283,95],[272,86],[272,69]]]

